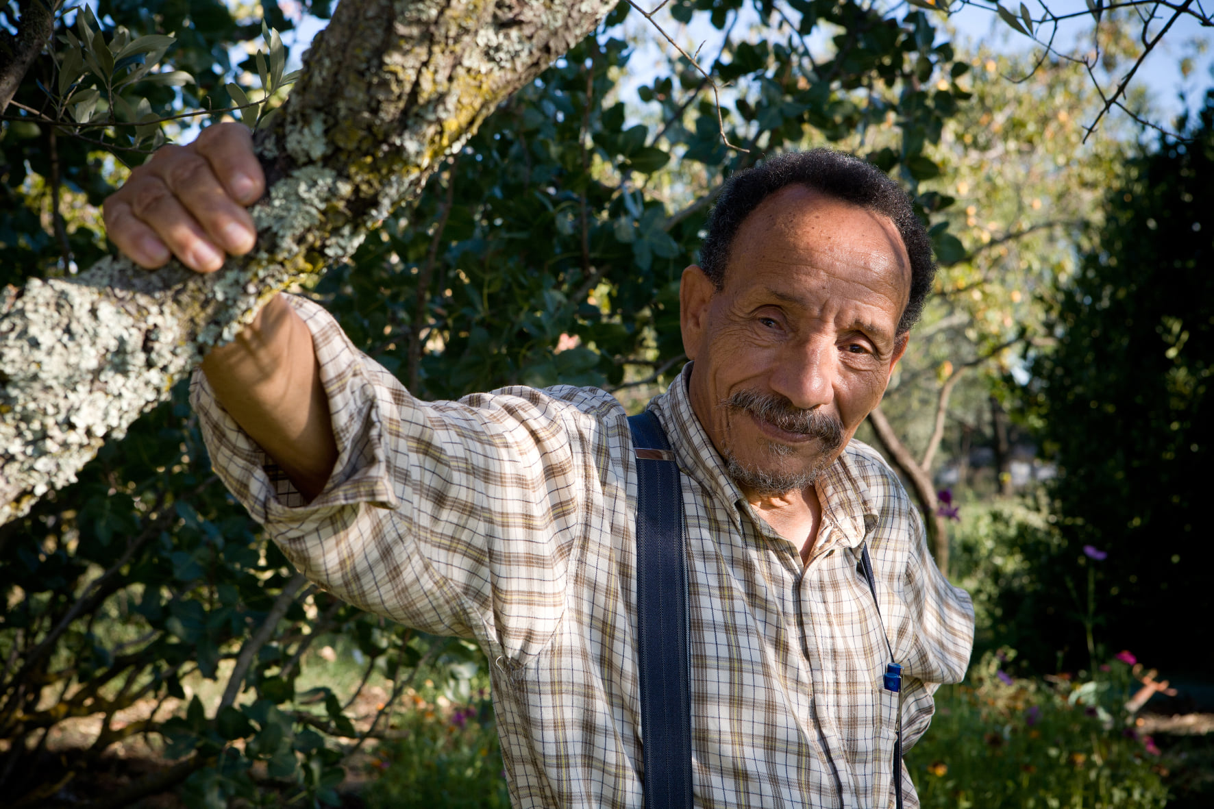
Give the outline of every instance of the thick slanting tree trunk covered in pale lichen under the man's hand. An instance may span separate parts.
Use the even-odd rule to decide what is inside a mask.
[[[256,135],[257,248],[211,276],[107,258],[0,292],[0,524],[75,479],[290,284],[348,259],[613,0],[342,0]]]

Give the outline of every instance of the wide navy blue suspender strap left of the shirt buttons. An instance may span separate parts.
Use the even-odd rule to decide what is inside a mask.
[[[682,487],[651,411],[628,419],[636,454],[636,612],[645,808],[691,809],[691,678]]]

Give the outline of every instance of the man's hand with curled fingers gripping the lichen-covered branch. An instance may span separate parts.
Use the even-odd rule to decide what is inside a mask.
[[[165,146],[131,171],[104,205],[109,239],[132,261],[161,267],[169,254],[197,272],[244,255],[257,233],[244,209],[266,191],[253,136],[240,124],[216,124],[189,146]]]

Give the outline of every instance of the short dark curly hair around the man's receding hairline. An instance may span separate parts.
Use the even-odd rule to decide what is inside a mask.
[[[910,299],[898,321],[898,334],[909,332],[923,313],[936,277],[931,238],[915,215],[910,197],[897,182],[872,163],[844,152],[827,148],[784,152],[726,180],[708,220],[708,236],[699,248],[699,267],[704,275],[717,290],[725,287],[730,248],[742,222],[764,199],[793,185],[881,214],[898,228],[910,256]]]

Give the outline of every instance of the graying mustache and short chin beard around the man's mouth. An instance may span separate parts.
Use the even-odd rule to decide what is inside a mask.
[[[827,458],[843,446],[843,423],[834,415],[822,413],[818,408],[801,409],[787,397],[777,394],[759,394],[742,390],[728,398],[721,400],[721,407],[731,411],[750,413],[760,422],[767,422],[782,430],[812,436],[822,441],[819,457],[809,469],[796,473],[775,473],[758,466],[747,466],[733,454],[732,447],[726,448],[726,473],[739,486],[759,494],[783,494],[812,486],[827,466]],[[787,458],[795,449],[787,443],[764,441],[772,458]]]

